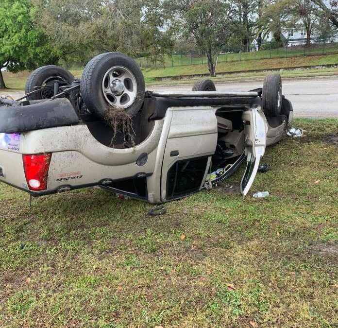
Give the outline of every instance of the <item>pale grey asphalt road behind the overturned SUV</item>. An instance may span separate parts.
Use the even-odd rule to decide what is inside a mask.
[[[263,81],[217,83],[217,90],[248,91],[262,86]],[[148,86],[149,90],[191,90],[192,85]],[[17,99],[22,91],[0,92],[11,94]],[[294,117],[304,118],[338,118],[338,78],[314,78],[304,80],[284,80],[283,94],[293,105]]]

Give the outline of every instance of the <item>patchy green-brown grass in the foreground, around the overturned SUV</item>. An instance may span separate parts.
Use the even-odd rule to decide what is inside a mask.
[[[0,327],[337,327],[338,120],[294,125],[246,198],[242,168],[161,217],[0,184]]]

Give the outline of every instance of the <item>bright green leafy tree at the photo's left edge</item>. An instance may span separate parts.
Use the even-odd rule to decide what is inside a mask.
[[[0,45],[0,69],[17,72],[57,60],[34,23],[34,7],[29,0],[1,0]],[[0,88],[5,87],[0,70]]]

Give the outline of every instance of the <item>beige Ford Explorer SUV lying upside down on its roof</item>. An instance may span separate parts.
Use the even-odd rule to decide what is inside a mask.
[[[133,138],[107,121],[110,108],[131,117]],[[278,74],[248,92],[216,91],[210,80],[151,92],[131,58],[102,53],[81,80],[44,66],[24,98],[0,99],[0,181],[32,196],[100,186],[162,203],[210,189],[246,161],[246,195],[292,117]]]

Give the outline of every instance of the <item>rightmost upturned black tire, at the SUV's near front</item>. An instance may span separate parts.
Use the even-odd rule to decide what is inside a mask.
[[[279,74],[268,74],[263,83],[262,107],[267,116],[277,116],[282,109],[282,79]]]

